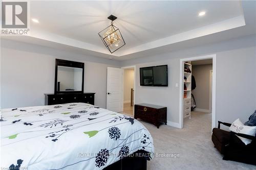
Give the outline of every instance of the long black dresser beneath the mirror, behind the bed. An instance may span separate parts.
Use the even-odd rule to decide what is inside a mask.
[[[94,94],[91,92],[84,93],[48,93],[45,94],[45,105],[57,105],[64,103],[89,103],[94,105]]]

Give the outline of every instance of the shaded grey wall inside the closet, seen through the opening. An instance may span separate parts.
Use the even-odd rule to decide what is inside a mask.
[[[210,70],[212,64],[192,65],[192,75],[196,80],[196,89],[192,91],[197,108],[211,110],[210,103]]]

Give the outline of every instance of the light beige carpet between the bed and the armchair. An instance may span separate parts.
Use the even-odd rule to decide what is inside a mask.
[[[155,157],[148,161],[147,169],[256,169],[254,165],[222,160],[211,142],[210,117],[209,113],[194,111],[191,119],[184,119],[183,129],[167,125],[157,129],[140,120],[153,136],[155,153],[180,154],[179,158]]]

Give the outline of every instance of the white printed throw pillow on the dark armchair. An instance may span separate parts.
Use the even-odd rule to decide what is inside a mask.
[[[245,126],[240,119],[236,119],[234,120],[234,122],[231,124],[230,131],[232,132],[236,132],[236,133],[243,133],[246,135],[251,135],[251,136],[255,136],[256,133],[256,126]],[[243,142],[244,144],[249,144],[251,142],[250,139],[246,139],[244,137],[240,137],[238,136]]]

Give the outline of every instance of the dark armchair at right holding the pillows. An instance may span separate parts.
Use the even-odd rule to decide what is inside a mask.
[[[211,140],[214,142],[223,160],[233,160],[256,165],[256,137],[241,133],[228,132],[220,129],[220,126],[230,127],[231,124],[218,121],[218,128],[212,130]],[[245,145],[238,136],[251,139],[251,143]]]

